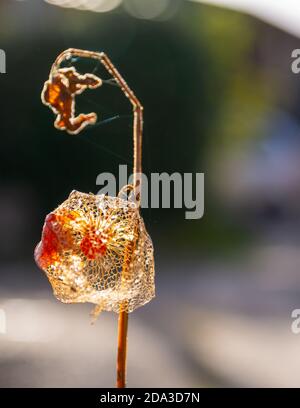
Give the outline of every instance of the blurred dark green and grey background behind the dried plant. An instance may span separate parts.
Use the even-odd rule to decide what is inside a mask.
[[[59,304],[33,261],[45,215],[132,161],[131,109],[113,87],[78,109],[119,119],[53,127],[40,93],[69,47],[105,51],[142,101],[147,175],[205,173],[202,219],[143,210],[157,298],[130,320],[129,386],[300,385],[299,44],[187,0],[1,2],[0,386],[114,384],[116,316],[91,327],[89,306]]]

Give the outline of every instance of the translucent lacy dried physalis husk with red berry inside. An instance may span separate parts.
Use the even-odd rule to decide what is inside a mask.
[[[47,215],[35,260],[65,303],[132,312],[155,295],[152,241],[128,199],[73,191]]]

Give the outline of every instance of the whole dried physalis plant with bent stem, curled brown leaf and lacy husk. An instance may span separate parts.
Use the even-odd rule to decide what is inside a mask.
[[[98,60],[133,107],[133,185],[118,197],[73,191],[45,220],[35,260],[62,302],[91,302],[119,313],[117,387],[125,387],[128,313],[155,295],[153,245],[140,215],[143,107],[104,53],[70,48],[52,65],[42,102],[57,115],[55,127],[77,134],[97,120],[96,113],[75,115],[75,97],[103,81],[94,74],[61,68],[73,57]],[[132,190],[134,200],[121,197]]]

